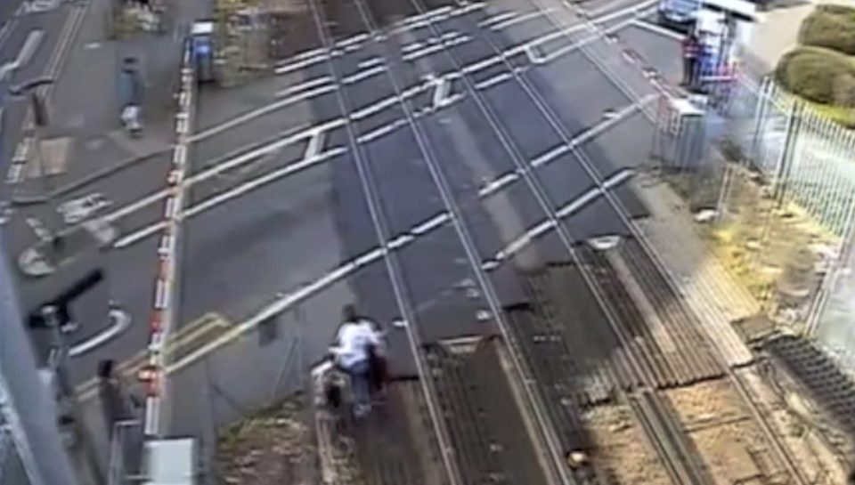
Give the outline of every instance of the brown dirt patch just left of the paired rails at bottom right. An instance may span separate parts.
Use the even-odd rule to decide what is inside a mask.
[[[671,480],[626,406],[598,406],[583,418],[596,447],[594,462],[618,483],[670,485]]]

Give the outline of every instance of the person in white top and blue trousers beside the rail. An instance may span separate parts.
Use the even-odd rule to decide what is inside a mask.
[[[330,351],[336,363],[349,376],[354,392],[354,416],[361,417],[371,411],[371,348],[378,349],[380,334],[370,319],[357,315],[354,305],[346,305],[344,323],[338,327],[336,344]]]

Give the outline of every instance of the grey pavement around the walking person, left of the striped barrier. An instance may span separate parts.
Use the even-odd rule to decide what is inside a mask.
[[[50,125],[42,133],[42,152],[49,186],[61,190],[75,182],[89,182],[98,190],[97,174],[168,150],[174,134],[175,85],[178,81],[183,32],[192,20],[205,14],[199,2],[175,3],[175,30],[164,35],[135,34],[110,40],[106,28],[110,0],[89,0],[81,28],[72,39],[65,69],[53,90]],[[142,138],[133,139],[119,121],[118,72],[122,61],[136,57],[145,82]],[[35,150],[28,154],[15,195],[37,200],[45,188]],[[162,172],[163,166],[154,170]],[[94,176],[96,175],[96,176]],[[133,177],[110,184],[133,186]]]

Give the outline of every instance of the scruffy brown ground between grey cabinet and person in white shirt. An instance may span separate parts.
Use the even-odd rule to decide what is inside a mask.
[[[216,473],[224,483],[313,485],[316,453],[301,396],[249,416],[220,433]]]

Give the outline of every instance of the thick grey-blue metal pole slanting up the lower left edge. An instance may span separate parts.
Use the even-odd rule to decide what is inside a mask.
[[[5,231],[0,227],[2,255],[4,242]],[[38,372],[12,285],[7,260],[0,257],[0,412],[12,431],[29,483],[78,485],[62,444],[56,402]]]

